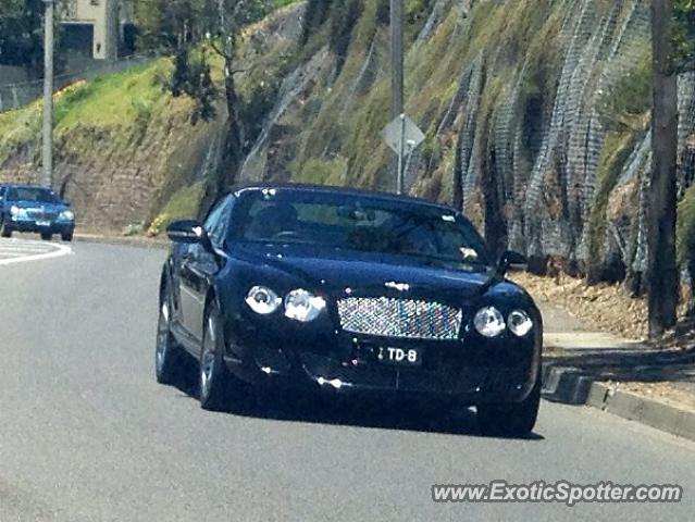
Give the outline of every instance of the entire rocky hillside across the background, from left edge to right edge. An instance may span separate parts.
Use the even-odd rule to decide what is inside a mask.
[[[649,1],[406,5],[406,105],[426,133],[407,161],[410,191],[460,208],[497,250],[521,250],[539,268],[640,274]],[[309,0],[247,32],[239,59],[247,156],[238,181],[394,188],[380,136],[389,120],[387,0]],[[167,201],[218,172],[224,115],[190,127],[186,100],[133,82],[116,90],[127,125],[104,124],[85,103],[58,125],[59,181],[96,225],[174,215]],[[693,73],[680,77],[679,94],[681,245],[695,250]],[[7,132],[0,115],[2,178],[37,171],[37,121],[15,119]]]

